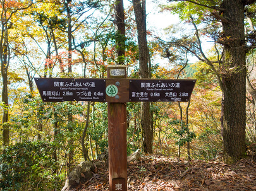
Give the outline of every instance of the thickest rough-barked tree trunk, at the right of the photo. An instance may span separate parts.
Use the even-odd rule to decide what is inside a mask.
[[[222,67],[226,73],[223,83],[223,141],[224,161],[234,163],[245,153],[246,122],[246,67],[244,4],[242,0],[223,1],[222,21],[224,32],[225,62]]]

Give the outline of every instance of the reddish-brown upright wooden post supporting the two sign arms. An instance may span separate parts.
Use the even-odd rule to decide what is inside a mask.
[[[107,78],[126,78],[126,66],[107,67]],[[118,88],[119,83],[113,84]],[[109,96],[109,95],[107,95]],[[118,95],[111,95],[119,99]],[[126,103],[108,103],[109,190],[127,191]]]

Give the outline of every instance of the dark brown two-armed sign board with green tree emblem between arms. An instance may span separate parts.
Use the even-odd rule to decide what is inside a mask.
[[[188,101],[195,79],[35,78],[46,102]]]

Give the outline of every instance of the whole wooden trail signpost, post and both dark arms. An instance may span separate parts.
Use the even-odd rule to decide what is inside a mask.
[[[43,101],[100,101],[108,105],[109,190],[127,191],[126,102],[188,101],[194,79],[127,79],[126,66],[107,67],[106,79],[35,78]]]

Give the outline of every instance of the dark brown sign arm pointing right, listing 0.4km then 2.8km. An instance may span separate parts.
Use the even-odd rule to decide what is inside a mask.
[[[195,79],[130,79],[129,101],[188,101]]]

